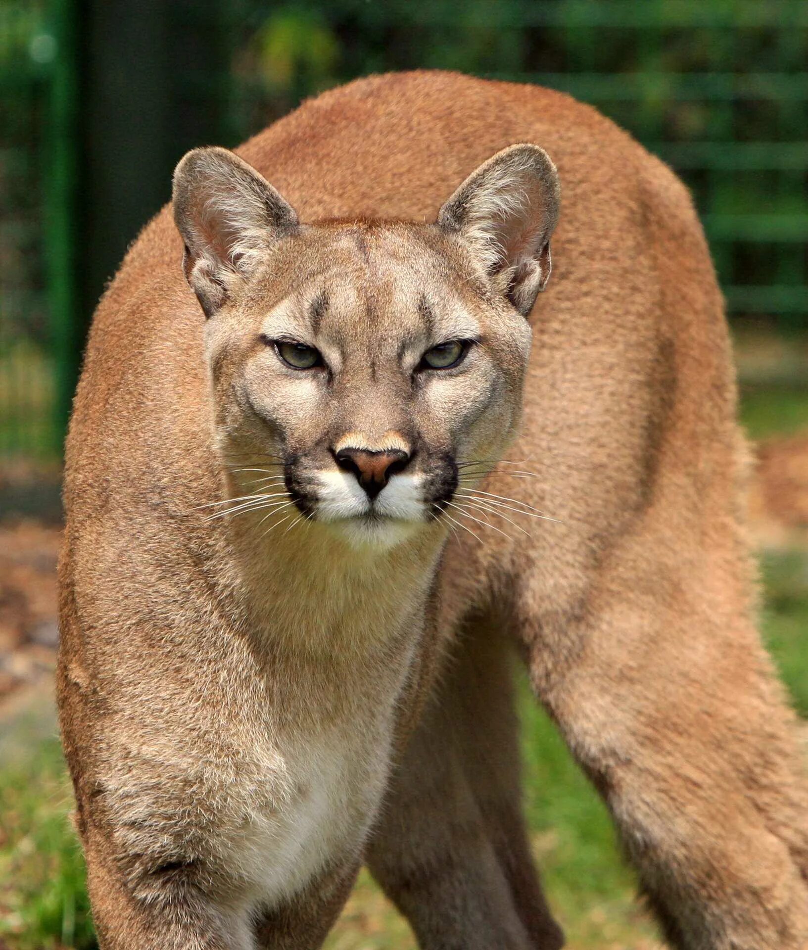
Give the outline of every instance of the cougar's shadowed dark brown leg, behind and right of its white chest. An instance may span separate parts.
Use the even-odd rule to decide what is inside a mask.
[[[410,737],[367,863],[424,950],[558,950],[520,811],[508,648],[462,638]]]

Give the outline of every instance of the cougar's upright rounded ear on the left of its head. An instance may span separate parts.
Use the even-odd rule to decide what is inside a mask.
[[[174,220],[185,241],[182,270],[206,316],[249,276],[297,215],[252,165],[226,148],[195,148],[174,172]]]

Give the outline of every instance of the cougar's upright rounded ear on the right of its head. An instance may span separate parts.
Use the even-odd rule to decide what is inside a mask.
[[[463,181],[442,206],[438,224],[468,241],[483,270],[526,316],[550,276],[559,200],[547,152],[511,145]]]

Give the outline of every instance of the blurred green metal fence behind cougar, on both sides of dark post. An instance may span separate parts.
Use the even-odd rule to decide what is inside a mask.
[[[569,91],[627,127],[687,181],[730,314],[806,327],[805,0],[146,6],[153,22],[167,24],[156,46],[170,82],[160,87],[165,102],[155,114],[182,126],[187,143],[194,114],[215,115],[219,142],[235,144],[304,96],[389,69],[455,68]],[[76,276],[108,276],[113,266],[105,261],[99,269],[93,256],[103,248],[83,240],[74,214],[79,166],[88,161],[80,116],[103,85],[96,75],[95,85],[78,89],[80,26],[69,0],[0,0],[0,455],[58,451],[90,309],[77,310]],[[192,57],[189,66],[188,55],[177,56],[179,40],[212,28],[225,48],[224,72],[210,57]],[[210,141],[209,129],[198,133],[200,142]],[[161,176],[151,193],[167,196],[167,172],[159,169],[179,158],[179,139],[159,141],[166,154],[149,163]],[[115,142],[107,144],[115,155]],[[157,203],[144,207],[144,218]],[[134,234],[118,237],[123,245]]]

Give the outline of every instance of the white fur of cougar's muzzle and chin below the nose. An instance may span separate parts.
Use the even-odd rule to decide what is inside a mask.
[[[421,475],[393,475],[372,504],[348,472],[320,471],[317,481],[315,517],[357,547],[392,547],[426,521]]]

